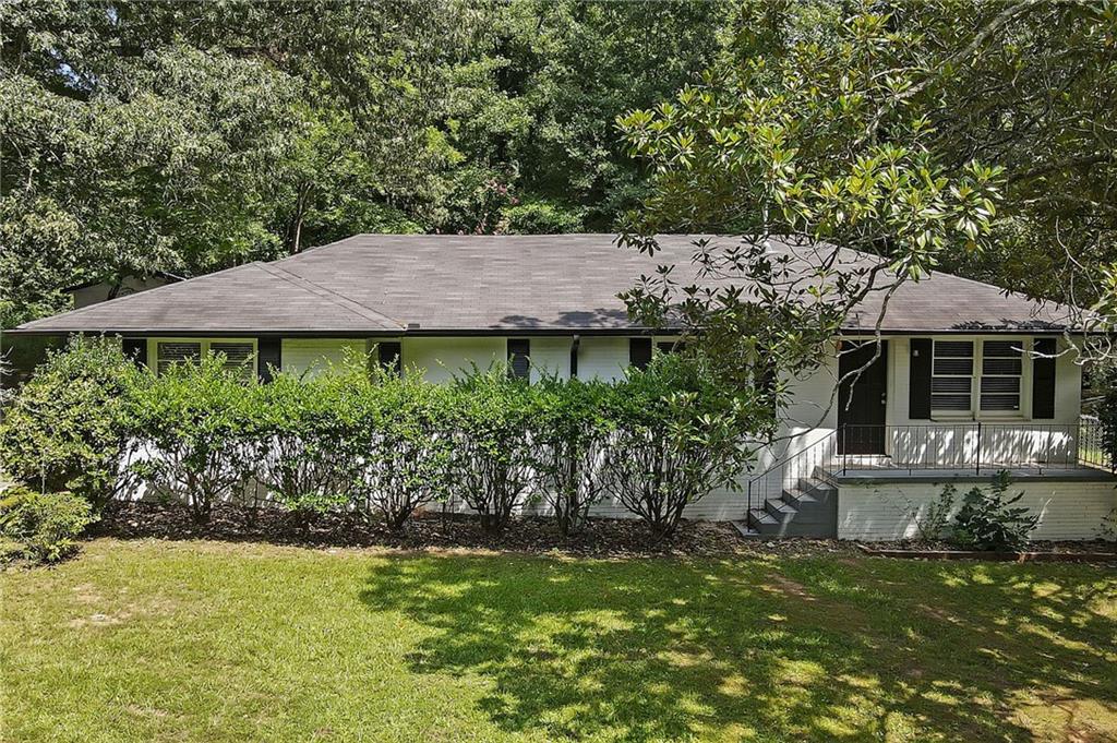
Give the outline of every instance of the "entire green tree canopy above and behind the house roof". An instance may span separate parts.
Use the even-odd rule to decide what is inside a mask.
[[[633,231],[794,228],[1107,312],[1117,288],[1108,0],[40,0],[0,29],[0,326],[89,279],[638,206]]]

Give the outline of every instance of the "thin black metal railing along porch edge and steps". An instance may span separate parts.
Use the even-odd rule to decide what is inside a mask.
[[[747,507],[763,508],[784,490],[810,489],[858,470],[972,471],[992,475],[1000,469],[1047,470],[1079,468],[1115,471],[1105,451],[1101,425],[1085,418],[1078,423],[1000,423],[965,421],[914,426],[844,425],[812,437],[805,446],[779,459],[747,484]]]

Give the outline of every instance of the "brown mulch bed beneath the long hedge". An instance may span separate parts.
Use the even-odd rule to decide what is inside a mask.
[[[732,524],[700,521],[684,521],[674,539],[656,544],[651,543],[643,523],[632,518],[593,518],[583,532],[563,539],[554,521],[543,516],[517,518],[504,533],[493,535],[481,530],[475,517],[443,516],[435,511],[418,514],[402,534],[397,534],[352,513],[327,514],[304,530],[283,509],[259,508],[254,515],[247,507],[228,504],[214,508],[208,524],[198,525],[185,505],[149,502],[111,504],[90,533],[116,539],[269,542],[312,547],[476,549],[586,556],[856,553],[850,544],[825,540],[745,541]]]

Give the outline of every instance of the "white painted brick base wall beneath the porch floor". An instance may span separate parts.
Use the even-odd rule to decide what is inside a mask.
[[[838,537],[870,542],[917,537],[917,515],[927,512],[943,485],[843,484],[838,492]],[[958,499],[974,485],[987,486],[989,479],[955,483]],[[1010,493],[1021,490],[1024,497],[1019,505],[1040,515],[1033,540],[1097,539],[1102,520],[1117,508],[1117,489],[1111,482],[1027,480],[1014,483]]]

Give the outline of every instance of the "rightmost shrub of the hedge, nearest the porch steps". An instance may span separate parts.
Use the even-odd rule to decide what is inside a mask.
[[[727,396],[701,359],[680,354],[630,370],[612,396],[604,487],[655,540],[675,533],[688,504],[738,487],[753,456],[743,444],[746,421],[762,404],[748,396]]]

